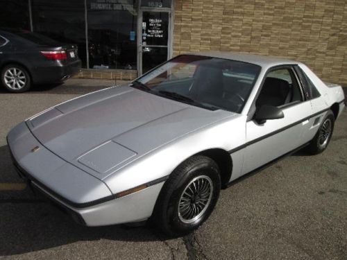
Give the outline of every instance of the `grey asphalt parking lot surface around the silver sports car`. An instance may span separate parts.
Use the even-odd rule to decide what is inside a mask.
[[[83,227],[33,196],[6,146],[20,121],[114,85],[71,79],[24,94],[0,92],[0,259],[347,259],[347,110],[327,150],[299,151],[221,192],[194,234],[149,227]]]

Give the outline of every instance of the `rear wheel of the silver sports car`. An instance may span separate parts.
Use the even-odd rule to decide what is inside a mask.
[[[316,132],[316,135],[310,142],[309,146],[307,146],[307,150],[312,155],[318,155],[319,153],[322,153],[325,148],[327,148],[332,136],[332,131],[334,130],[334,122],[335,116],[332,111],[329,110],[325,115],[321,126],[319,126],[319,130]]]

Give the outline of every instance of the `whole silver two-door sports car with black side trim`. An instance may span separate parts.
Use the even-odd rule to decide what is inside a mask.
[[[321,153],[344,106],[300,62],[190,53],[19,123],[8,146],[19,175],[78,223],[152,220],[181,235],[238,177],[304,146]]]

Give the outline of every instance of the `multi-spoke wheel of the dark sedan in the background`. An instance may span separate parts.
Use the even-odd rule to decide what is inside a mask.
[[[1,70],[1,83],[9,92],[26,92],[31,87],[31,78],[24,67],[10,64]]]

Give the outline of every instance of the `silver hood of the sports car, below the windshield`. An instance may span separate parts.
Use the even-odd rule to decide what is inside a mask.
[[[27,125],[51,152],[103,180],[151,150],[232,115],[123,86],[52,107]]]

